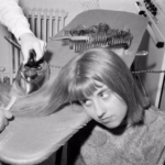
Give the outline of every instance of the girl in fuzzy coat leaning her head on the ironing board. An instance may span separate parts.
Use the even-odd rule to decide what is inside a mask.
[[[62,99],[80,103],[94,119],[68,142],[68,165],[164,164],[165,113],[150,106],[113,52],[94,48],[76,56],[56,85]]]

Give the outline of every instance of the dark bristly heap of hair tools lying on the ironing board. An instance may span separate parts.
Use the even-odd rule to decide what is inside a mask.
[[[130,30],[116,30],[106,23],[100,23],[89,28],[78,25],[69,31],[64,31],[63,37],[52,37],[52,40],[62,40],[63,45],[69,45],[70,50],[81,53],[94,47],[123,47],[128,50],[133,35]]]

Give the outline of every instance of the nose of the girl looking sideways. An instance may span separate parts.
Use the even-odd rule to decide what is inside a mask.
[[[101,101],[95,102],[95,109],[96,109],[96,116],[98,118],[102,118],[105,113],[107,112],[107,108]]]

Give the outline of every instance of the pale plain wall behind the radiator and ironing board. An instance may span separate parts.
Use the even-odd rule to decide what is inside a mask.
[[[81,0],[88,1],[88,0]],[[100,8],[107,10],[124,10],[129,12],[134,11],[135,0],[99,0]],[[68,12],[66,24],[68,24],[79,12],[82,11],[80,0],[20,0],[22,8],[48,8],[48,9],[64,9]],[[4,40],[4,35],[9,35],[7,28],[0,24],[0,66],[7,68],[9,72],[9,43]]]

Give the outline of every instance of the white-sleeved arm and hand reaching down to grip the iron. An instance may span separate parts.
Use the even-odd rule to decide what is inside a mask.
[[[46,43],[32,33],[28,19],[24,16],[19,0],[0,0],[0,22],[16,37],[23,53],[23,63],[28,63],[30,50],[36,53],[38,61],[45,51]]]

